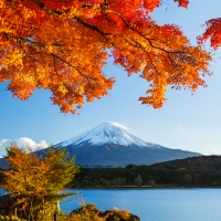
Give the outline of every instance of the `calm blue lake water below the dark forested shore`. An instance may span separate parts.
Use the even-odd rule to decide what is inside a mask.
[[[141,221],[220,221],[221,189],[125,189],[70,190],[81,192],[66,198],[61,209],[70,212],[82,200],[97,209],[129,210]]]

